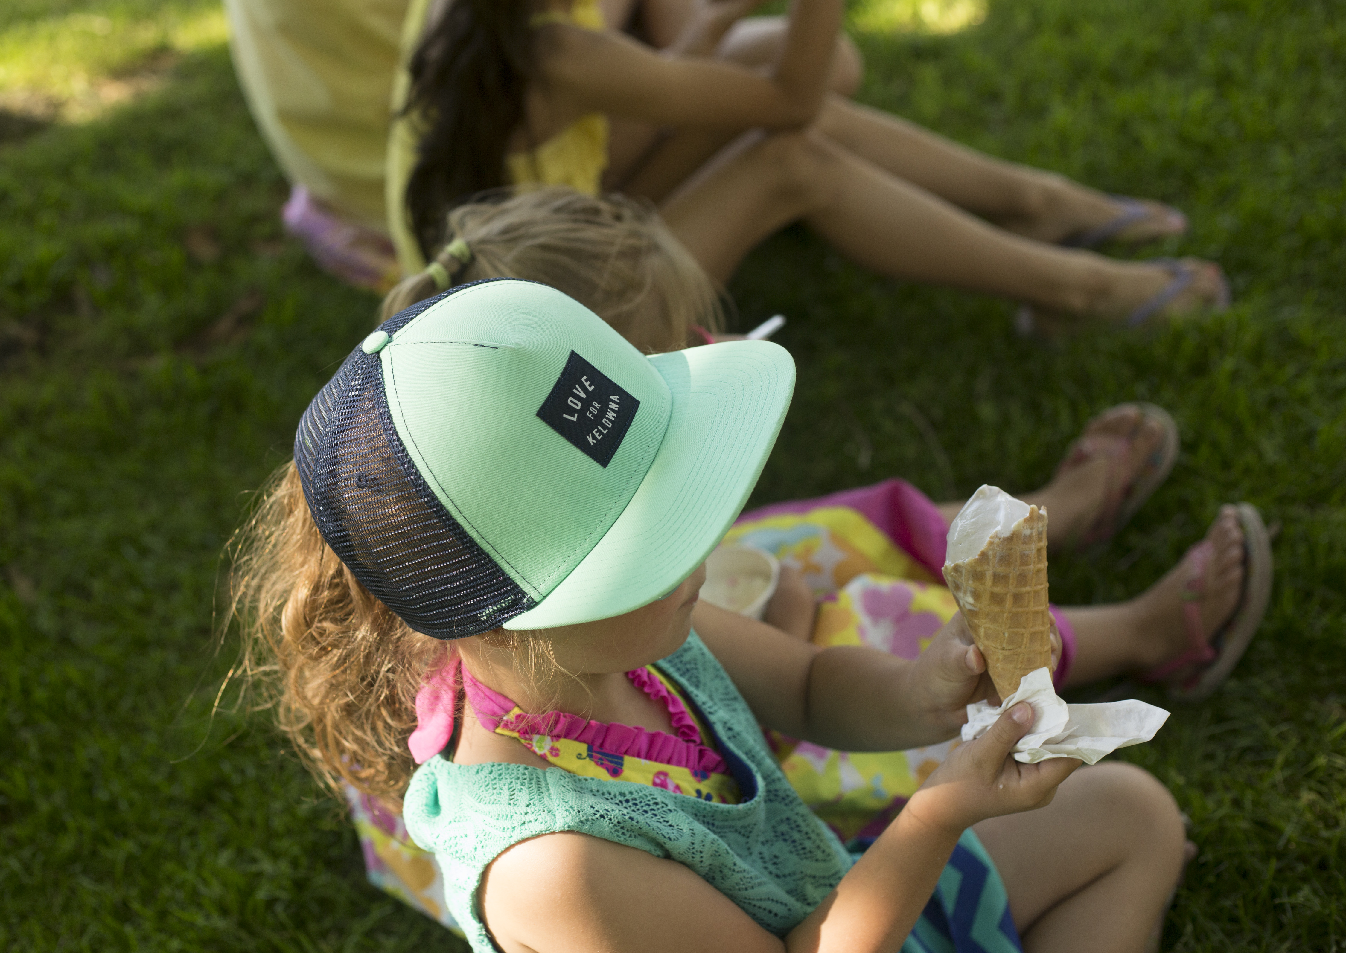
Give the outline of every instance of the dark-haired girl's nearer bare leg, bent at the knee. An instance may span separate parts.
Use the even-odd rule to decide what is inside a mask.
[[[1158,265],[1113,261],[996,229],[816,131],[748,133],[674,192],[664,215],[721,281],[754,245],[798,218],[880,273],[1057,311],[1120,319],[1170,281]],[[1199,268],[1166,314],[1201,307],[1218,291],[1218,268]]]

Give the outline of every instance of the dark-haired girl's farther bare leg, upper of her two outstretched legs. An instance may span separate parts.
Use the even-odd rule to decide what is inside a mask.
[[[851,152],[1000,227],[1040,241],[1112,221],[1121,207],[1063,175],[995,159],[914,122],[833,97],[817,128]],[[1186,230],[1182,215],[1158,202],[1152,215],[1120,237],[1144,241]]]

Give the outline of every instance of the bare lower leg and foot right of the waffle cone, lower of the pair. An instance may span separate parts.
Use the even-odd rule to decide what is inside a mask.
[[[1201,625],[1209,635],[1229,619],[1242,591],[1244,532],[1234,507],[1221,507],[1206,540],[1214,546],[1206,564],[1206,594],[1201,603]],[[1075,630],[1075,660],[1066,686],[1144,672],[1182,653],[1187,647],[1182,592],[1189,573],[1187,565],[1179,563],[1129,602],[1062,607]]]

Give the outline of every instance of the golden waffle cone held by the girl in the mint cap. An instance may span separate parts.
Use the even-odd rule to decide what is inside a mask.
[[[944,577],[1001,699],[1018,691],[1023,676],[1051,668],[1046,510],[1030,506],[1008,534],[992,534],[973,559],[946,563]]]

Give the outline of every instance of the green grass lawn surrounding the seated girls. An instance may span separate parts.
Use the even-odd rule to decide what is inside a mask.
[[[1343,949],[1341,4],[945,5],[942,28],[973,26],[857,5],[863,98],[1182,206],[1191,234],[1166,250],[1221,261],[1236,307],[1043,347],[1003,302],[879,280],[787,232],[731,288],[743,326],[789,316],[800,363],[755,501],[894,474],[937,498],[1026,490],[1096,411],[1170,408],[1172,478],[1051,580],[1065,603],[1135,594],[1224,501],[1284,528],[1234,677],[1124,752],[1202,848],[1166,948]],[[376,303],[283,237],[285,184],[223,42],[207,0],[0,8],[0,948],[460,949],[365,884],[264,720],[209,717],[232,657],[211,651],[222,545]]]

